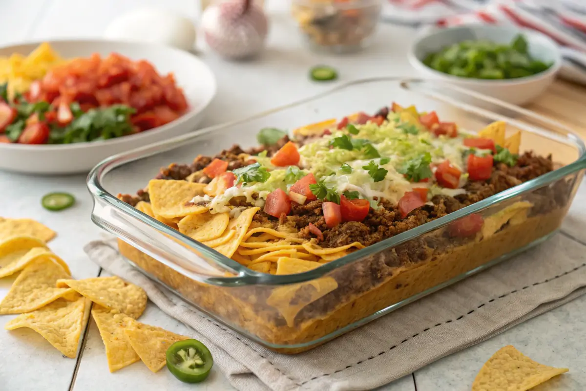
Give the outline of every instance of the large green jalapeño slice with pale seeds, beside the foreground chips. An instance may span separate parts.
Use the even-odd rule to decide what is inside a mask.
[[[199,383],[207,378],[214,365],[212,353],[197,339],[185,339],[169,346],[167,368],[185,383]]]

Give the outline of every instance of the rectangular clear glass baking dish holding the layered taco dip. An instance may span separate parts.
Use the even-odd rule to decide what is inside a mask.
[[[522,131],[521,150],[552,154],[556,169],[440,219],[305,273],[253,271],[139,212],[117,193],[135,193],[161,166],[188,163],[240,144],[263,127],[296,128],[391,101],[436,110],[480,130],[495,120]],[[111,157],[88,176],[93,221],[119,238],[128,261],[227,327],[274,351],[297,353],[540,243],[561,224],[586,167],[584,143],[541,115],[437,81],[359,80],[284,107]],[[479,214],[482,234],[449,236],[456,220]]]

